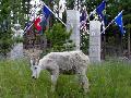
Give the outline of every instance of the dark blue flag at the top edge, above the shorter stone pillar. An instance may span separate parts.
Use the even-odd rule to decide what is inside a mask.
[[[96,12],[98,13],[98,15],[100,16],[102,20],[104,20],[103,11],[105,10],[105,8],[106,8],[105,0],[96,8]]]

